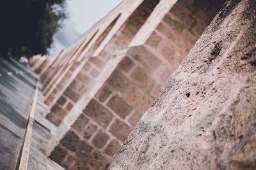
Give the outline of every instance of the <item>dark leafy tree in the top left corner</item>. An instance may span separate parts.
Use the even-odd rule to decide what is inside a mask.
[[[65,0],[3,0],[0,4],[0,55],[18,59],[46,54],[66,17]]]

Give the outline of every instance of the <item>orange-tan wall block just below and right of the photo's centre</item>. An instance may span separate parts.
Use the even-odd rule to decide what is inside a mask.
[[[145,94],[137,87],[134,87],[131,92],[129,92],[128,96],[126,97],[129,103],[133,104],[140,110],[142,113],[148,110],[151,103],[153,103],[154,99],[148,94]]]

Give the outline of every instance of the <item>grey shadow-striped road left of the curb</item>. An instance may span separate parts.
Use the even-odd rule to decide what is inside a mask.
[[[0,57],[0,169],[14,169],[22,145],[37,76]]]

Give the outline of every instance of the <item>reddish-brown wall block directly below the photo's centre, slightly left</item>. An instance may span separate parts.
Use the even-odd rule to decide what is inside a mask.
[[[107,105],[122,118],[125,118],[132,111],[131,106],[129,106],[129,104],[127,104],[124,99],[119,97],[117,94],[109,100]]]

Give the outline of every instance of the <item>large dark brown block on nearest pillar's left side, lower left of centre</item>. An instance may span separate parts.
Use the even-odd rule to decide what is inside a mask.
[[[108,126],[113,118],[112,113],[100,103],[95,101],[95,99],[92,99],[92,101],[88,103],[86,108],[83,110],[83,113],[88,115],[88,117],[92,118],[95,122],[97,122],[97,124],[104,128]]]

